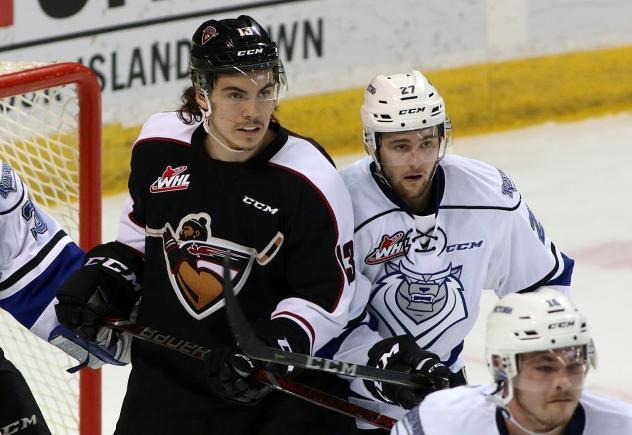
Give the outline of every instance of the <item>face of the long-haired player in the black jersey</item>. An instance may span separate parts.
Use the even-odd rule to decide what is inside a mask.
[[[213,134],[235,150],[258,149],[265,142],[277,92],[271,70],[220,75],[209,96]]]

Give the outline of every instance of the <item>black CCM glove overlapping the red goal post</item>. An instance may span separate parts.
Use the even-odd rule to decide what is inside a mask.
[[[140,297],[142,267],[143,259],[119,242],[93,248],[57,289],[59,322],[94,341],[105,317],[128,319]]]

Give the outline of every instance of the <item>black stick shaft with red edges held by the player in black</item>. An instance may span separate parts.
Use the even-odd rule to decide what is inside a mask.
[[[171,349],[175,352],[179,352],[201,361],[204,361],[205,355],[212,352],[210,349],[203,346],[188,342],[172,335],[162,334],[156,329],[137,325],[129,321],[112,319],[106,320],[104,324],[108,328],[125,332],[138,339]],[[351,418],[362,420],[383,429],[391,429],[395,424],[395,420],[387,415],[382,415],[362,406],[347,402],[346,400],[332,396],[331,394],[312,388],[308,385],[292,381],[282,376],[274,375],[264,369],[259,369],[254,372],[253,377],[257,381],[267,384],[277,391],[306,400]]]

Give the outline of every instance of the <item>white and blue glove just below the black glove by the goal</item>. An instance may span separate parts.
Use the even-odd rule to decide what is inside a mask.
[[[69,368],[68,373],[84,367],[98,369],[104,364],[122,366],[130,361],[131,337],[110,328],[100,328],[96,340],[88,341],[64,325],[58,325],[50,333],[48,342],[79,362],[78,366]]]

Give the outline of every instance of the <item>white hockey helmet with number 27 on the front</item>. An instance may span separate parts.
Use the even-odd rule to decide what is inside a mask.
[[[452,125],[443,98],[419,71],[374,77],[364,92],[360,113],[364,147],[378,170],[381,162],[376,133],[435,127],[441,137],[437,161],[445,154],[452,137]]]

